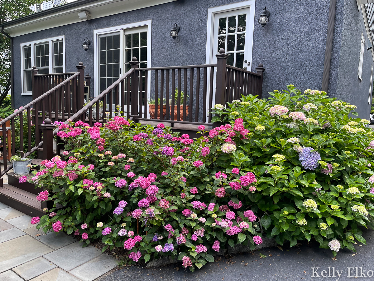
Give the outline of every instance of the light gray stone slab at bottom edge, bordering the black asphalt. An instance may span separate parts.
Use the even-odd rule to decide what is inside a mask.
[[[92,281],[116,266],[117,260],[113,256],[101,254],[69,272],[83,281]]]

